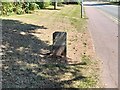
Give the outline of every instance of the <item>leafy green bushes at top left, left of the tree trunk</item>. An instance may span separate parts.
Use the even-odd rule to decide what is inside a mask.
[[[2,2],[1,15],[29,13],[35,9],[42,9],[50,5],[49,2]]]

